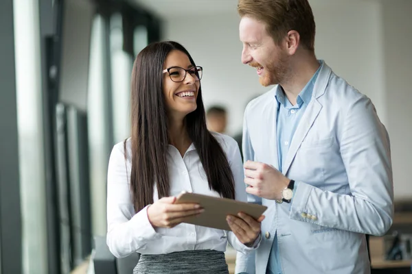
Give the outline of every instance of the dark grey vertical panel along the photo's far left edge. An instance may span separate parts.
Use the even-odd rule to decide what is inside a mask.
[[[0,273],[22,273],[13,1],[0,1]]]

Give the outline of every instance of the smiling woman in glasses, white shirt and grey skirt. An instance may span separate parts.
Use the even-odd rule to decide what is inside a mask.
[[[227,240],[244,253],[260,242],[264,216],[231,216],[225,233],[181,223],[203,209],[174,204],[183,190],[246,201],[236,141],[207,131],[202,72],[176,42],[135,60],[131,138],[113,148],[107,190],[107,244],[117,257],[141,253],[133,273],[228,273]]]

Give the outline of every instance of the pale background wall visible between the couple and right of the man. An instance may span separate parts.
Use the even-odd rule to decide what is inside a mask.
[[[411,198],[407,171],[412,163],[408,147],[412,129],[407,123],[407,113],[411,114],[407,103],[412,100],[407,81],[411,74],[408,65],[412,64],[408,51],[412,44],[412,19],[408,17],[412,4],[407,0],[310,2],[317,23],[317,57],[374,102],[391,137],[396,198]],[[183,43],[196,64],[205,68],[205,105],[227,106],[229,134],[241,129],[248,99],[268,90],[260,86],[254,70],[240,62],[239,20],[236,6],[225,14],[179,14],[165,19],[163,31],[163,39]],[[398,121],[404,123],[398,125]]]

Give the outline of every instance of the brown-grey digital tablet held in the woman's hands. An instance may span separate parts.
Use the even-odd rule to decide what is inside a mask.
[[[227,215],[238,216],[239,212],[243,212],[252,216],[254,219],[259,217],[266,210],[266,206],[257,205],[255,203],[245,203],[233,199],[211,197],[190,192],[183,192],[179,195],[175,203],[198,203],[204,212],[196,216],[187,217],[183,223],[191,223],[192,225],[202,225],[216,229],[230,231],[227,224]]]

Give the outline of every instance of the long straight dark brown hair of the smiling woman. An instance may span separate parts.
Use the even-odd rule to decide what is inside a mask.
[[[155,42],[137,55],[131,83],[132,170],[130,189],[135,211],[153,203],[156,184],[159,199],[170,195],[167,164],[168,117],[163,95],[163,63],[172,50],[182,51],[196,66],[189,52],[177,42]],[[201,88],[197,108],[185,116],[187,133],[196,147],[209,188],[234,199],[233,174],[218,141],[207,130]],[[125,152],[126,152],[126,141]]]

